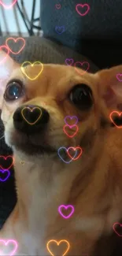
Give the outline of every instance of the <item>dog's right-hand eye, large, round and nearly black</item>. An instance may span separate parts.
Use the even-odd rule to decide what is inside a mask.
[[[81,110],[90,109],[93,104],[91,88],[86,84],[77,84],[73,87],[69,98]]]

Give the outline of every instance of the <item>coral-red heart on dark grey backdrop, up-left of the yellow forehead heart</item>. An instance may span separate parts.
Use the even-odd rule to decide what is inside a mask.
[[[20,50],[18,50],[17,52],[13,51],[10,46],[8,45],[9,42],[13,41],[14,43],[20,43],[21,42],[21,46]],[[11,53],[13,54],[20,54],[20,51],[24,49],[25,46],[25,40],[22,37],[18,37],[17,39],[13,39],[13,37],[9,37],[9,39],[6,39],[6,46],[8,47],[8,49],[11,51]],[[14,47],[14,45],[13,45]]]

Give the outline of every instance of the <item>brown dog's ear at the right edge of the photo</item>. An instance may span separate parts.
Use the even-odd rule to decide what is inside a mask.
[[[111,69],[103,69],[98,76],[98,95],[104,99],[109,109],[117,109],[122,103],[122,65]]]

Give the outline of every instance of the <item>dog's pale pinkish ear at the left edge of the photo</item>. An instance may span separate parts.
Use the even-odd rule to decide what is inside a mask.
[[[7,55],[6,52],[0,50],[0,109],[2,109],[2,98],[6,88],[7,80],[13,72],[13,69],[17,69],[19,64],[13,61],[12,58]]]

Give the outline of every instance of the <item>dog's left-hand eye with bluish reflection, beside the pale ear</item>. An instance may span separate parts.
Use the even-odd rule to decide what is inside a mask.
[[[6,101],[13,101],[24,95],[23,84],[18,81],[10,81],[7,84],[4,98]]]

